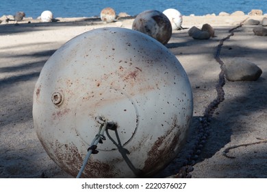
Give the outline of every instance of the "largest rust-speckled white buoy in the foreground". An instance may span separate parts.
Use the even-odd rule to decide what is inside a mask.
[[[177,58],[157,40],[131,29],[104,27],[81,34],[44,64],[34,89],[38,138],[62,169],[77,176],[104,132],[84,178],[152,176],[177,156],[192,120],[192,91]]]

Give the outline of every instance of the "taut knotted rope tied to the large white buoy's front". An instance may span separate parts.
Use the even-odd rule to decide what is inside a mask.
[[[94,137],[94,140],[92,141],[90,147],[88,148],[88,153],[86,155],[86,158],[84,158],[84,163],[81,166],[81,169],[77,175],[76,178],[80,178],[81,177],[81,173],[83,173],[84,169],[86,168],[86,165],[88,163],[88,160],[91,156],[91,154],[97,154],[97,144],[98,143],[103,143],[102,139],[105,140],[105,136],[103,135],[103,133],[105,132],[107,128],[107,120],[104,121],[104,123],[101,123],[101,126],[99,128],[99,133]]]

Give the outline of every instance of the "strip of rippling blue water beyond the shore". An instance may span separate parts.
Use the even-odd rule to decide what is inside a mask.
[[[167,8],[175,8],[183,15],[212,13],[218,15],[222,11],[232,13],[236,10],[247,14],[252,9],[259,9],[267,13],[267,0],[1,0],[0,16],[23,11],[26,16],[37,18],[42,11],[50,10],[54,17],[90,17],[99,16],[101,10],[106,7],[113,8],[117,14],[127,12],[131,16],[145,10],[164,11]]]

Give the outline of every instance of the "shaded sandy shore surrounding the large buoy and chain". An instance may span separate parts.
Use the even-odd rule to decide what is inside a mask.
[[[216,98],[220,65],[214,56],[220,40],[245,19],[262,21],[263,17],[183,16],[185,29],[173,32],[166,47],[177,56],[192,85],[192,133],[184,152],[156,177],[177,173],[205,108]],[[36,136],[31,112],[36,80],[47,59],[66,41],[99,27],[131,28],[133,19],[108,24],[84,18],[62,21],[0,25],[0,178],[71,178],[53,163]],[[216,37],[194,40],[188,36],[188,28],[205,23],[214,27]],[[267,144],[251,144],[267,139],[267,37],[255,36],[253,27],[242,25],[234,30],[220,58],[223,62],[233,57],[254,62],[262,76],[255,82],[226,81],[225,100],[212,117],[193,178],[267,178]],[[223,156],[233,146],[228,155],[235,158]]]

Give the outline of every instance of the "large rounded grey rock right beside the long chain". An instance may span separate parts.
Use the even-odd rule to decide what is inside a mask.
[[[255,81],[262,75],[262,69],[248,60],[233,58],[223,64],[225,77],[229,81]]]

